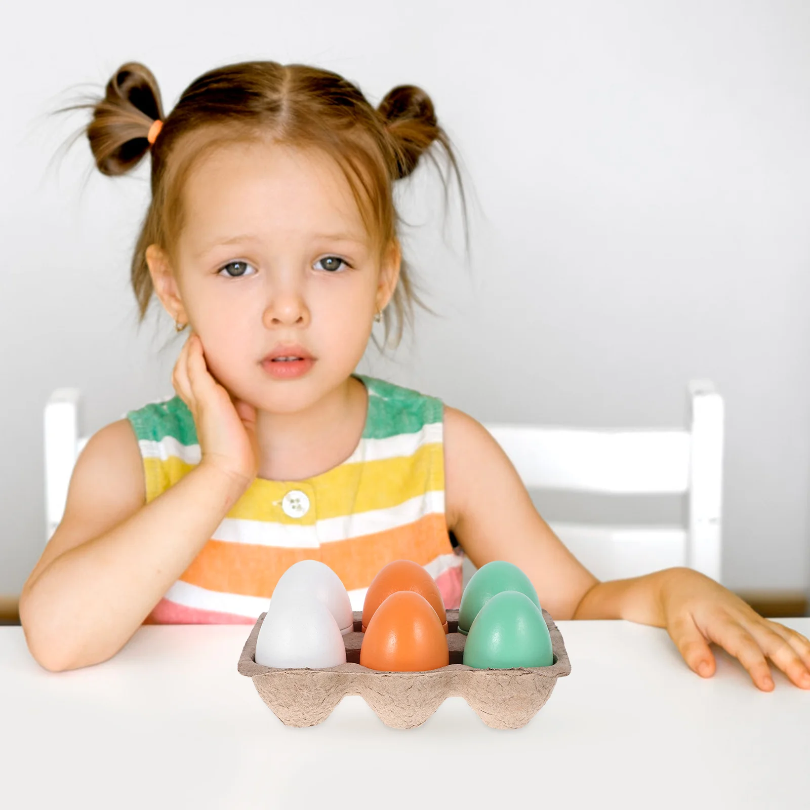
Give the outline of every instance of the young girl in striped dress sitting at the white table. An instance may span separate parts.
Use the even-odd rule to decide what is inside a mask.
[[[715,642],[760,689],[774,688],[766,658],[810,688],[799,633],[691,569],[599,582],[485,428],[354,372],[373,322],[387,339],[393,309],[399,340],[419,303],[393,185],[433,143],[456,168],[418,87],[375,109],[330,71],[246,62],[201,76],[164,116],[154,77],[130,63],[87,136],[107,175],[151,157],[134,292],[142,320],[155,292],[190,330],[177,396],[102,428],[76,463],[19,605],[43,667],[109,659],[144,622],[253,624],[305,558],[330,565],[355,608],[383,565],[408,558],[455,608],[451,532],[477,566],[518,565],[557,620],[666,627],[701,676]]]

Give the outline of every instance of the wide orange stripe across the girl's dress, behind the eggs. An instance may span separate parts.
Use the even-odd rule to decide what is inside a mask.
[[[406,526],[322,544],[319,548],[279,548],[211,539],[181,576],[208,590],[270,597],[276,582],[300,560],[320,560],[339,576],[346,590],[371,584],[383,565],[413,560],[420,565],[452,554],[444,514],[427,514]]]

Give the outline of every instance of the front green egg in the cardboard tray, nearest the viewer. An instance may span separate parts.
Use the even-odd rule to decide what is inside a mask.
[[[475,616],[463,661],[475,669],[550,667],[552,638],[543,613],[526,594],[502,590]]]

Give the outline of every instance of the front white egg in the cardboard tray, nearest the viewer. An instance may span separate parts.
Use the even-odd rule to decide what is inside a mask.
[[[326,605],[288,596],[273,599],[258,630],[254,659],[263,667],[339,667],[346,663],[346,646]]]

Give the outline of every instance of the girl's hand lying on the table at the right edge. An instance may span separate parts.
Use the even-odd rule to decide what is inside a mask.
[[[801,633],[760,616],[739,596],[692,569],[671,569],[660,592],[664,626],[698,675],[714,675],[709,642],[723,647],[764,692],[774,689],[766,659],[796,686],[810,689],[810,642]]]

